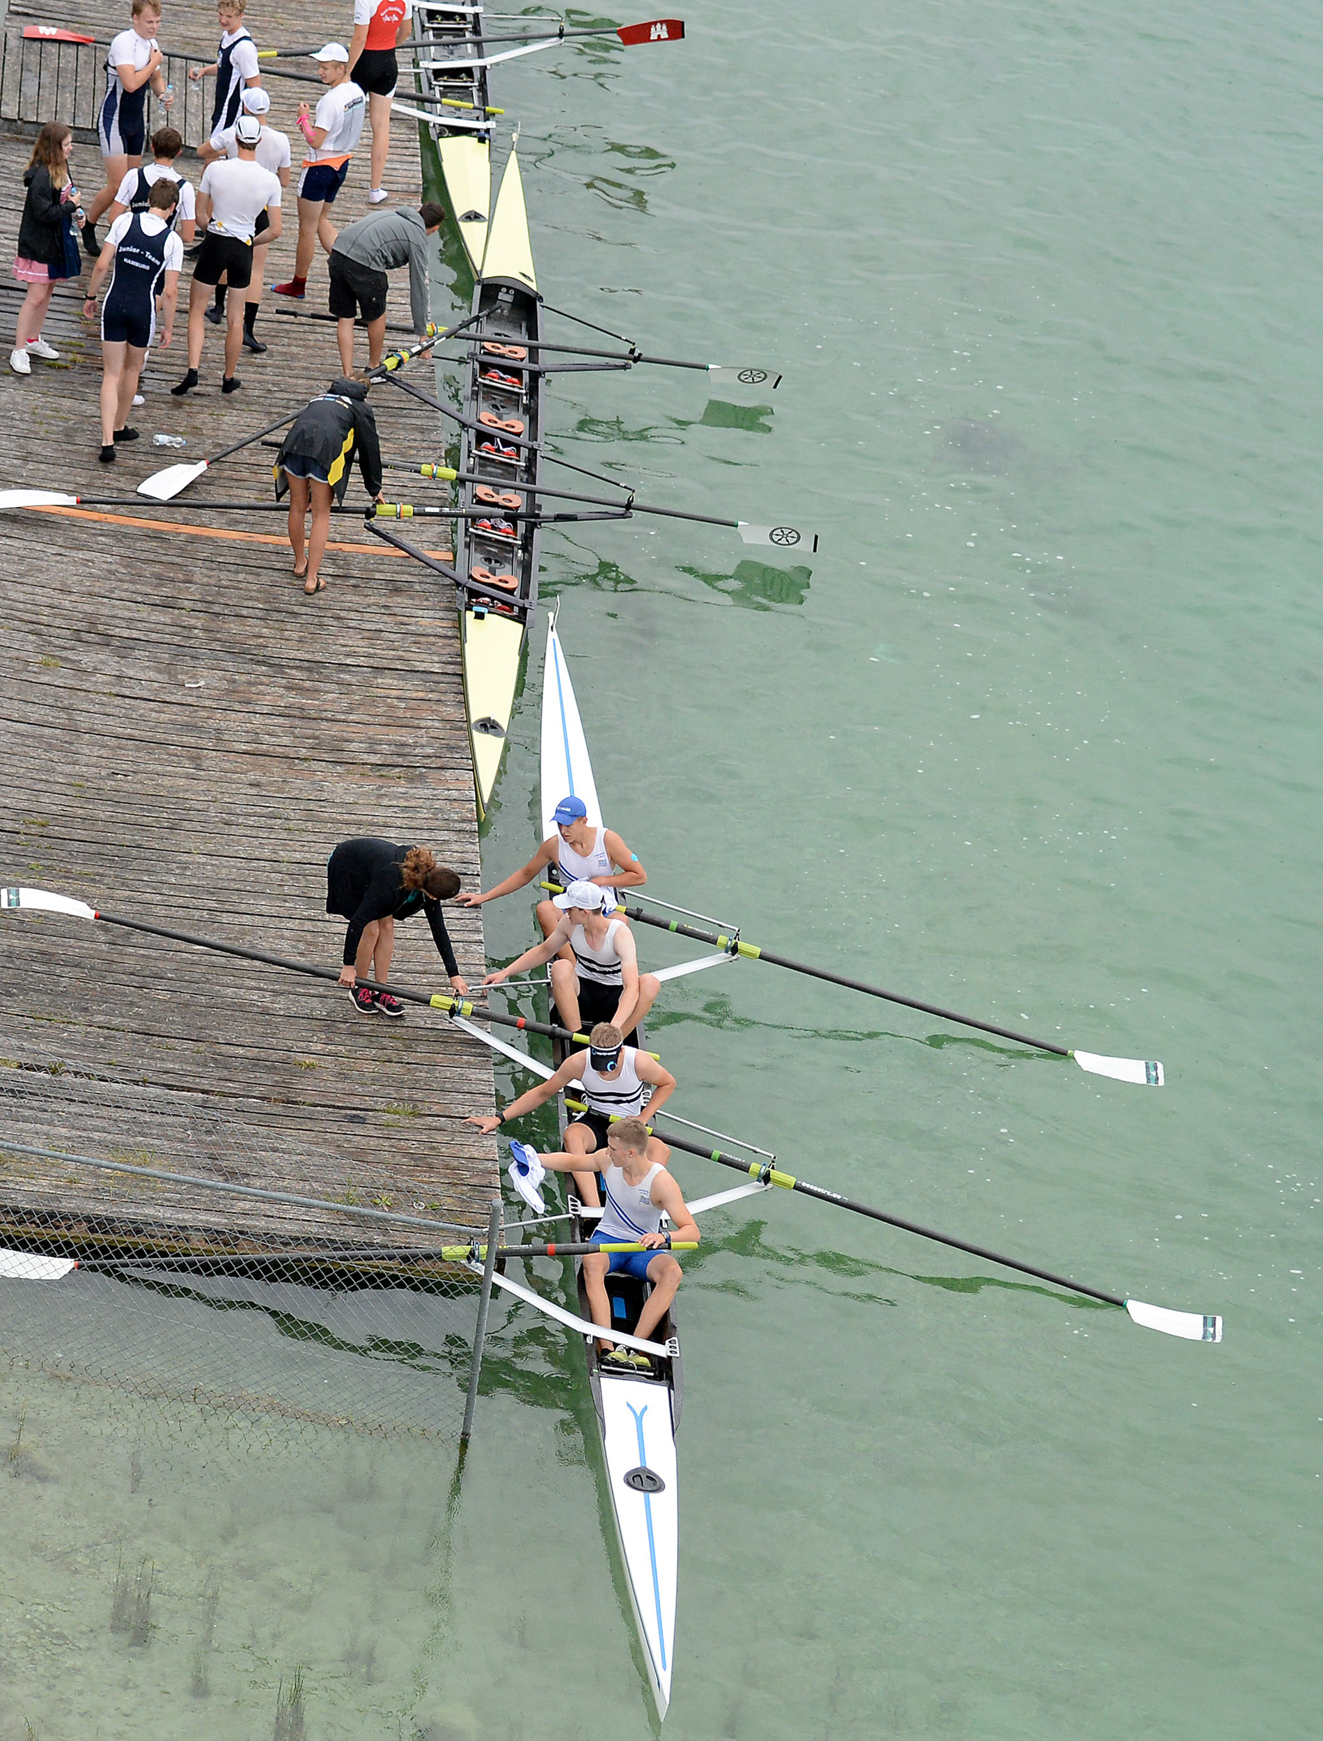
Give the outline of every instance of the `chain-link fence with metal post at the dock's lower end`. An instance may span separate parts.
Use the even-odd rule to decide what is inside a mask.
[[[484,1295],[454,1248],[489,1229],[397,1207],[379,1163],[326,1177],[279,1111],[0,1060],[0,1361],[153,1400],[172,1436],[458,1442]]]

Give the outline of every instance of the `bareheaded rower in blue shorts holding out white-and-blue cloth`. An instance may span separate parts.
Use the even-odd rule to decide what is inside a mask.
[[[681,1187],[660,1161],[651,1160],[648,1126],[641,1118],[625,1118],[613,1125],[606,1139],[606,1208],[597,1222],[592,1245],[646,1245],[646,1252],[592,1252],[583,1259],[583,1283],[588,1292],[592,1321],[602,1330],[611,1328],[611,1302],[606,1294],[609,1273],[625,1271],[651,1283],[634,1335],[648,1339],[670,1309],[682,1280],[679,1262],[665,1247],[698,1243],[698,1222],[689,1213]],[[512,1142],[515,1166],[533,1172],[534,1163],[552,1172],[574,1172],[576,1154],[538,1154],[526,1142]],[[662,1233],[662,1215],[670,1217],[670,1233]],[[651,1365],[648,1354],[616,1348],[609,1335],[597,1339],[602,1361],[611,1367]]]

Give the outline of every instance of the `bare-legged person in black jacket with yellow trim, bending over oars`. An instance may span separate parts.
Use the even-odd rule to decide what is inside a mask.
[[[336,503],[345,500],[355,451],[364,489],[373,501],[381,501],[381,442],[367,404],[367,387],[357,378],[341,376],[299,411],[280,442],[273,467],[277,501],[289,491],[294,578],[303,581],[308,597],[326,587],[320,569],[331,533],[331,496]],[[303,529],[310,507],[312,531],[305,548]]]

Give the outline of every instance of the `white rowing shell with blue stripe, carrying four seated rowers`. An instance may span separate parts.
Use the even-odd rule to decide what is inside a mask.
[[[555,620],[547,629],[547,669],[541,691],[541,808],[543,837],[555,832],[550,811],[576,792],[588,806],[588,820],[601,822],[597,785],[583,738],[574,688],[569,681]],[[635,1045],[646,1039],[639,1029]],[[557,1041],[559,1046],[559,1041]],[[564,1052],[557,1050],[555,1062]],[[561,1102],[561,1128],[567,1112]],[[595,1215],[576,1210],[573,1238],[592,1234]],[[609,1276],[613,1323],[630,1332],[646,1299],[646,1285],[634,1276]],[[578,1266],[580,1313],[588,1316],[583,1266]],[[667,1358],[653,1361],[651,1374],[616,1375],[602,1367],[597,1341],[583,1339],[597,1428],[602,1436],[606,1483],[616,1522],[625,1583],[642,1644],[648,1685],[658,1718],[670,1704],[670,1673],[675,1645],[675,1584],[679,1567],[679,1471],[675,1429],[681,1421],[682,1368],[675,1313],[653,1332],[667,1344]]]

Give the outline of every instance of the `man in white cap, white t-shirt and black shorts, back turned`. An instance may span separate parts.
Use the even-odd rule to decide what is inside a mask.
[[[258,162],[261,122],[256,115],[240,115],[235,122],[238,155],[207,164],[197,192],[197,214],[205,225],[193,284],[188,291],[188,374],[171,388],[176,399],[190,393],[198,381],[202,362],[204,313],[211,291],[225,275],[230,284],[230,324],[225,333],[225,374],[221,392],[233,393],[244,383],[235,374],[244,327],[238,319],[240,292],[252,275],[252,237],[263,212],[268,242],[280,235],[280,179]]]

